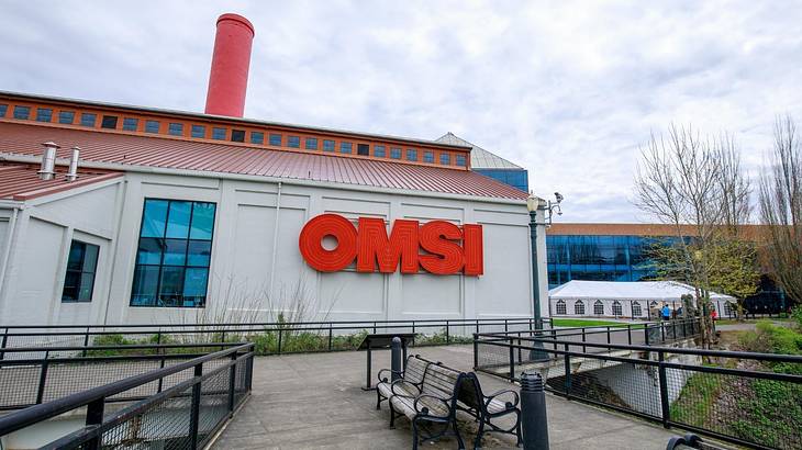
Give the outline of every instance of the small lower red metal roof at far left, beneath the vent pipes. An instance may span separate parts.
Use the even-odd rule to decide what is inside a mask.
[[[0,162],[0,199],[24,201],[123,176],[110,170],[79,170],[77,180],[67,181],[67,168],[56,167],[56,177],[45,181],[37,171],[34,165]]]

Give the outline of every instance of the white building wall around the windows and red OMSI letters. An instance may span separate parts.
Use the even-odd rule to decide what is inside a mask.
[[[272,182],[133,173],[124,182],[27,205],[11,237],[0,312],[8,324],[143,324],[275,319],[479,318],[532,316],[525,204],[388,194]],[[130,306],[147,198],[216,204],[205,308]],[[323,213],[349,218],[447,220],[484,232],[482,277],[316,272],[298,250],[303,224]],[[0,210],[0,225],[8,222]],[[3,225],[4,224],[4,225]],[[2,228],[0,228],[2,232]],[[545,229],[542,307],[547,311]],[[73,238],[100,246],[90,303],[62,303]],[[2,241],[0,240],[0,244]],[[304,313],[299,314],[299,305]]]

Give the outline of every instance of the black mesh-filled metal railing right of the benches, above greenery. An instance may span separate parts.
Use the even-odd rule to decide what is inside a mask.
[[[681,338],[673,327],[643,333],[653,336],[655,329],[660,337]],[[577,342],[573,336],[548,333],[477,334],[474,365],[509,381],[536,371],[557,395],[666,427],[748,447],[802,448],[802,357],[655,344]]]

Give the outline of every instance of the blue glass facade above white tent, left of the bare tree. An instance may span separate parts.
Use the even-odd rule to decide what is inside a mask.
[[[546,236],[548,288],[571,280],[641,281],[653,277],[645,257],[656,238]]]

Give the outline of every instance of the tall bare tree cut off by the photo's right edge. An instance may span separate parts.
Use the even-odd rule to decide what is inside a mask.
[[[760,178],[766,262],[775,281],[802,303],[802,143],[791,116],[778,117],[770,167]]]

